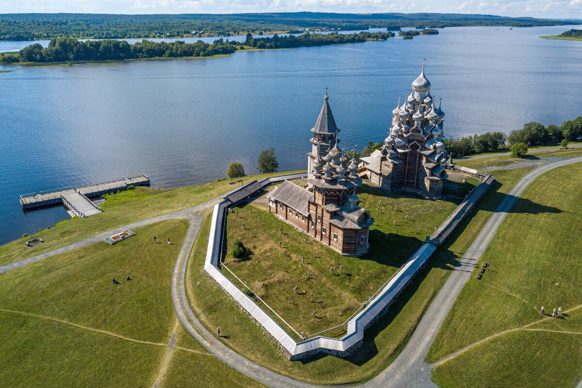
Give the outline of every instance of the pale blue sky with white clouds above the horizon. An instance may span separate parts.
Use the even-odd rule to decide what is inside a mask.
[[[582,0],[0,0],[0,13],[455,12],[582,19]]]

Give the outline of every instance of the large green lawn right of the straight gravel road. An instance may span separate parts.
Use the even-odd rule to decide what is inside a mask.
[[[575,386],[580,380],[581,175],[582,163],[554,169],[524,191],[481,257],[489,268],[481,280],[466,283],[427,358],[438,361],[502,330],[527,330],[502,334],[437,366],[439,385]],[[544,318],[542,305],[550,313],[561,306],[568,315],[529,325]]]

